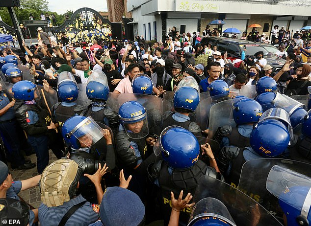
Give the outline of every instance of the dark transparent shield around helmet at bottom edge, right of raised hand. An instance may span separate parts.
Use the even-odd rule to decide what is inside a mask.
[[[202,203],[202,200],[205,198],[216,199],[223,203],[223,205],[219,205],[219,202],[213,202],[218,203],[216,206],[204,206],[199,204]],[[196,225],[195,223],[199,221],[201,221],[201,225],[205,222],[208,225],[208,221],[215,219],[219,219],[222,224],[223,222],[226,222],[227,225],[238,226],[282,225],[264,207],[255,202],[249,196],[228,185],[227,183],[208,176],[203,176],[200,178],[196,192],[194,194],[193,202],[196,203],[196,205],[193,207],[191,212],[188,226],[194,226]],[[211,204],[211,202],[204,203]],[[199,208],[200,206],[201,208]],[[227,211],[223,208],[224,206],[226,206]],[[215,209],[215,207],[218,208]]]

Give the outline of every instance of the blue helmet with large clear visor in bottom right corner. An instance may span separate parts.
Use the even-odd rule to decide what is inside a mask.
[[[285,225],[311,224],[311,178],[280,165],[271,168],[266,189],[279,199],[286,216]]]

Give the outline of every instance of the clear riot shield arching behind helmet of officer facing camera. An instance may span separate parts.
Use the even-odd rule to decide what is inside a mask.
[[[119,94],[119,107],[127,101],[137,101],[147,110],[148,127],[151,133],[160,135],[163,124],[163,101],[153,95],[138,93],[121,93]]]

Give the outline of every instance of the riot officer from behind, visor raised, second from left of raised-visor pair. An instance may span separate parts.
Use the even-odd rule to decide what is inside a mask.
[[[101,70],[95,70],[87,80],[87,98],[92,104],[87,107],[87,116],[91,116],[96,122],[104,123],[113,132],[118,129],[119,115],[106,105],[109,96],[107,77]]]

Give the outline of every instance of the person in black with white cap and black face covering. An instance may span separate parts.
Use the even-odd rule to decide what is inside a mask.
[[[154,85],[156,85],[153,89],[156,95],[160,95],[164,92],[163,87],[168,85],[171,78],[172,76],[165,71],[165,61],[163,59],[158,59],[156,61],[156,72],[151,75],[151,80]]]

